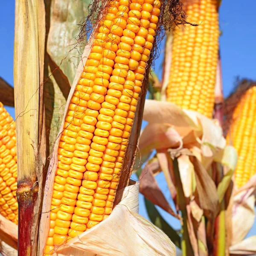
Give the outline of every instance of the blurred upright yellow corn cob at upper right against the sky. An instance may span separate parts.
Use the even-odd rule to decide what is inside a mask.
[[[167,101],[212,117],[218,60],[218,1],[184,0],[187,21],[176,26]]]

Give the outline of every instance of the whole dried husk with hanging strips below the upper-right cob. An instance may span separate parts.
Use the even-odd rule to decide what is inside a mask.
[[[208,119],[195,111],[182,110],[170,102],[147,100],[143,119],[148,121],[148,125],[142,131],[139,142],[142,159],[147,160],[153,150],[157,151],[158,164],[176,202],[177,180],[173,177],[171,162],[177,158],[184,193],[181,210],[186,226],[183,227],[187,230],[194,255],[206,256],[208,248],[204,216],[209,223],[213,223],[218,214],[219,204],[236,167],[236,151],[233,147],[226,146],[217,120]],[[168,154],[172,157],[171,160]],[[208,173],[213,161],[224,165],[224,177],[218,188]],[[147,184],[148,188],[156,187],[153,186],[155,182],[156,180]],[[141,177],[140,183],[147,183],[147,179],[143,180]],[[144,194],[145,191],[141,192]],[[152,196],[148,198],[152,199]],[[158,205],[159,203],[160,201]]]

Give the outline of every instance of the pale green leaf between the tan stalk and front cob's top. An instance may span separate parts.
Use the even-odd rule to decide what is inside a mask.
[[[54,0],[51,3],[47,52],[67,76],[70,84],[74,80],[87,41],[84,38],[83,46],[76,46],[75,37],[79,34],[77,25],[84,19],[84,8],[88,6],[88,2],[90,1],[70,3],[69,0]]]

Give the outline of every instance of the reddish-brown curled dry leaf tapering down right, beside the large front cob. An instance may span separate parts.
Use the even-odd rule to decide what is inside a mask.
[[[165,196],[163,195],[163,192],[158,186],[157,180],[155,179],[152,172],[153,167],[154,166],[149,163],[143,168],[140,174],[140,192],[153,204],[158,205],[175,218],[180,219],[180,215],[173,211]]]

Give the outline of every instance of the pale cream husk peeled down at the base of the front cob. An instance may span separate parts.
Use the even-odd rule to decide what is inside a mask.
[[[59,247],[53,256],[175,256],[175,245],[163,231],[131,210],[138,209],[138,185],[126,187],[123,195],[105,221]]]

